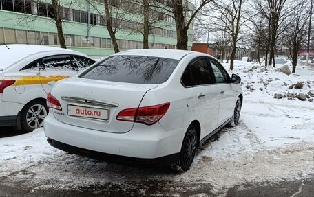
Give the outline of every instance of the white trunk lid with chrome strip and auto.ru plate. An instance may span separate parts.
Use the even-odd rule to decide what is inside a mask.
[[[143,96],[156,84],[128,84],[85,78],[71,78],[56,84],[52,95],[62,110],[53,109],[54,117],[74,126],[104,132],[128,132],[134,122],[118,121],[116,115],[126,108],[136,108]]]

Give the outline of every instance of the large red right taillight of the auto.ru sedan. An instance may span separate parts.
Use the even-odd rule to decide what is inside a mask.
[[[117,120],[134,121],[147,125],[155,124],[167,112],[170,103],[155,106],[145,106],[140,108],[128,108],[116,116]]]

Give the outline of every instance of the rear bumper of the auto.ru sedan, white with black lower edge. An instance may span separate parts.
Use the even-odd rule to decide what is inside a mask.
[[[133,162],[134,159],[148,163],[174,163],[178,161],[178,157],[174,155],[180,152],[185,135],[185,129],[166,132],[159,124],[134,124],[132,130],[125,133],[102,132],[64,124],[55,119],[52,113],[45,118],[43,127],[48,141],[56,148],[82,155],[82,152],[78,152],[79,148],[92,152],[84,154],[85,157],[105,161],[107,158],[117,159],[123,163]],[[171,155],[174,157],[170,157]],[[169,161],[166,162],[163,157]]]

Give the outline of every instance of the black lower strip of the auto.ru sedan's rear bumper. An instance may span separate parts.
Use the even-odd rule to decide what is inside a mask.
[[[70,146],[68,144],[61,143],[60,141],[55,141],[49,138],[47,139],[47,141],[54,148],[58,148],[60,150],[69,152],[71,154],[77,154],[83,157],[98,159],[101,161],[109,161],[112,163],[118,163],[118,164],[123,164],[123,165],[127,164],[127,165],[141,166],[141,167],[163,167],[171,163],[176,163],[176,161],[178,161],[180,157],[180,153],[170,154],[165,157],[158,157],[154,159],[125,157],[125,156],[120,156],[120,155],[115,155],[115,154],[97,152],[93,150],[86,150],[86,149],[79,148],[76,146]]]

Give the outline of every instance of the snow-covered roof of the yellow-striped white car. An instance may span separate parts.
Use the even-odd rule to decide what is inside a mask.
[[[72,51],[69,49],[62,49],[59,47],[48,47],[44,45],[0,45],[0,69],[5,69],[6,67],[10,67],[15,62],[19,62],[23,58],[27,58],[28,56],[32,56],[34,54],[45,53],[45,52],[69,52],[70,54],[78,54],[81,56],[85,56],[77,51]]]

